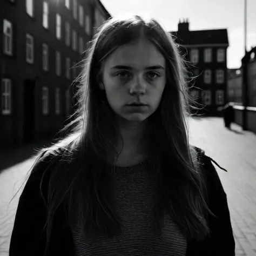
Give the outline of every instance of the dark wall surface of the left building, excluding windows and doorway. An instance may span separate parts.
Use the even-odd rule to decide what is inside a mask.
[[[71,113],[65,111],[65,91],[70,90],[70,98],[75,88],[71,86],[73,78],[78,75],[78,68],[71,68],[71,79],[66,78],[66,57],[73,64],[79,63],[83,55],[72,49],[72,29],[77,31],[79,37],[83,38],[85,44],[93,36],[93,25],[95,24],[96,2],[92,0],[78,0],[78,6],[84,9],[83,26],[79,24],[79,7],[77,6],[77,19],[73,17],[73,0],[70,0],[70,9],[66,8],[65,1],[45,0],[49,4],[49,29],[43,28],[43,0],[34,0],[34,17],[26,13],[25,0],[10,3],[9,0],[1,1],[0,16],[0,78],[10,78],[12,81],[11,91],[11,114],[4,115],[0,112],[0,147],[18,145],[24,142],[24,125],[26,112],[24,109],[24,87],[27,80],[35,85],[35,140],[43,137],[52,137],[62,128],[67,116]],[[102,10],[101,10],[102,12]],[[61,39],[56,38],[56,14],[59,14],[61,22]],[[90,34],[85,30],[85,15],[90,18]],[[103,21],[104,15],[100,19]],[[6,56],[3,52],[3,19],[8,19],[13,25],[13,55]],[[71,45],[65,44],[65,22],[71,26]],[[100,25],[97,23],[97,25]],[[28,64],[26,55],[26,33],[34,38],[34,63]],[[79,37],[77,45],[79,50]],[[49,46],[49,71],[42,68],[42,44]],[[61,75],[56,75],[56,51],[61,55]],[[42,87],[49,88],[49,114],[42,113]],[[55,113],[55,88],[60,88],[60,113]],[[3,88],[2,88],[3,90]],[[2,94],[2,91],[1,91]],[[2,97],[1,97],[2,98]],[[2,105],[0,98],[0,104]],[[33,105],[33,104],[32,104]],[[32,106],[31,105],[31,106]],[[27,108],[29,109],[29,108]],[[31,110],[31,109],[30,109]],[[29,110],[29,111],[30,111]],[[31,113],[33,111],[31,110]],[[31,116],[32,120],[32,116]]]

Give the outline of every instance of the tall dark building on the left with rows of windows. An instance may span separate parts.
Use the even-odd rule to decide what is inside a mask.
[[[71,114],[77,64],[110,15],[96,0],[0,3],[0,148],[52,137]]]

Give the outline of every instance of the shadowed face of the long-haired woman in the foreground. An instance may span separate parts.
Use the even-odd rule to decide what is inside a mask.
[[[166,83],[166,63],[152,43],[140,39],[120,46],[102,68],[100,89],[119,117],[143,121],[156,111]]]

